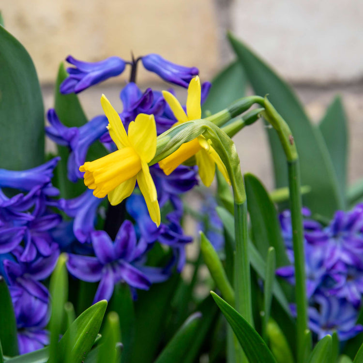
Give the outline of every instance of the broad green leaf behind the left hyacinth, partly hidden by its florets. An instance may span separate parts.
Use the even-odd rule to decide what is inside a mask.
[[[55,86],[55,110],[61,122],[67,127],[80,127],[87,123],[87,117],[83,112],[82,106],[76,94],[61,94],[59,87],[61,82],[68,76],[61,63]],[[97,100],[98,101],[98,100]],[[56,178],[58,180],[58,188],[61,191],[61,197],[72,198],[80,195],[86,190],[83,180],[78,180],[76,183],[69,181],[67,178],[67,159],[69,150],[65,146],[57,145],[61,161],[56,168]],[[99,157],[106,155],[106,149],[100,142],[95,142],[91,145],[87,159],[89,161],[95,160]]]

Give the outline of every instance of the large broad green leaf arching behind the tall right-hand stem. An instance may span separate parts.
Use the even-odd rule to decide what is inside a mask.
[[[287,83],[233,35],[229,41],[240,60],[255,92],[269,94],[277,112],[287,121],[295,138],[300,157],[302,185],[312,190],[304,197],[304,205],[312,212],[332,216],[343,207],[338,181],[320,131],[307,118],[301,103]],[[276,187],[287,185],[287,163],[278,136],[267,129],[272,149]]]

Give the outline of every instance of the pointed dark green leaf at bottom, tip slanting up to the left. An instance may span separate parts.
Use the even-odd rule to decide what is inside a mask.
[[[232,306],[227,304],[227,302],[213,291],[211,291],[211,294],[223,315],[226,317],[229,325],[232,327],[248,360],[254,363],[275,363],[276,360],[270,349],[256,330]]]

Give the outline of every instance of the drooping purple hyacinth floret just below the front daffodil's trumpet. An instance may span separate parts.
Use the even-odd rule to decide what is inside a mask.
[[[91,232],[97,218],[97,209],[104,198],[96,198],[91,189],[73,199],[60,199],[59,206],[69,217],[74,218],[73,232],[81,243],[90,242]]]

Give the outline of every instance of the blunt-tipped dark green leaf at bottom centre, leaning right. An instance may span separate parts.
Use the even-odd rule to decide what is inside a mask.
[[[157,357],[155,363],[184,362],[184,352],[188,350],[194,340],[200,318],[201,314],[199,312],[191,315],[171,338],[167,346]]]

